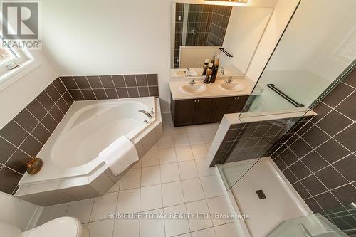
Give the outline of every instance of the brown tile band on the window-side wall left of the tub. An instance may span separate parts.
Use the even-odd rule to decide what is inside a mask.
[[[0,130],[0,191],[14,194],[26,162],[36,157],[72,103],[57,78]]]

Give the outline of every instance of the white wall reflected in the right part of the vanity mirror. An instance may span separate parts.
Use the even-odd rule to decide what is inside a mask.
[[[238,68],[246,73],[272,11],[273,9],[257,7],[232,9],[223,47],[234,57],[229,58],[221,53],[221,65],[225,68]]]

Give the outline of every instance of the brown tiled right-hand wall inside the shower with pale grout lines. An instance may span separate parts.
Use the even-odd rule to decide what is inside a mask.
[[[272,157],[315,213],[356,203],[356,70]]]

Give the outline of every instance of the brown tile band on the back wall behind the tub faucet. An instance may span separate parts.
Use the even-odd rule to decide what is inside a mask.
[[[157,74],[63,76],[74,100],[159,96]]]

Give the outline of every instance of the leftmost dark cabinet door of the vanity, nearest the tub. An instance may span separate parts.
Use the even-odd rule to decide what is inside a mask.
[[[195,100],[174,100],[174,126],[192,125]]]

